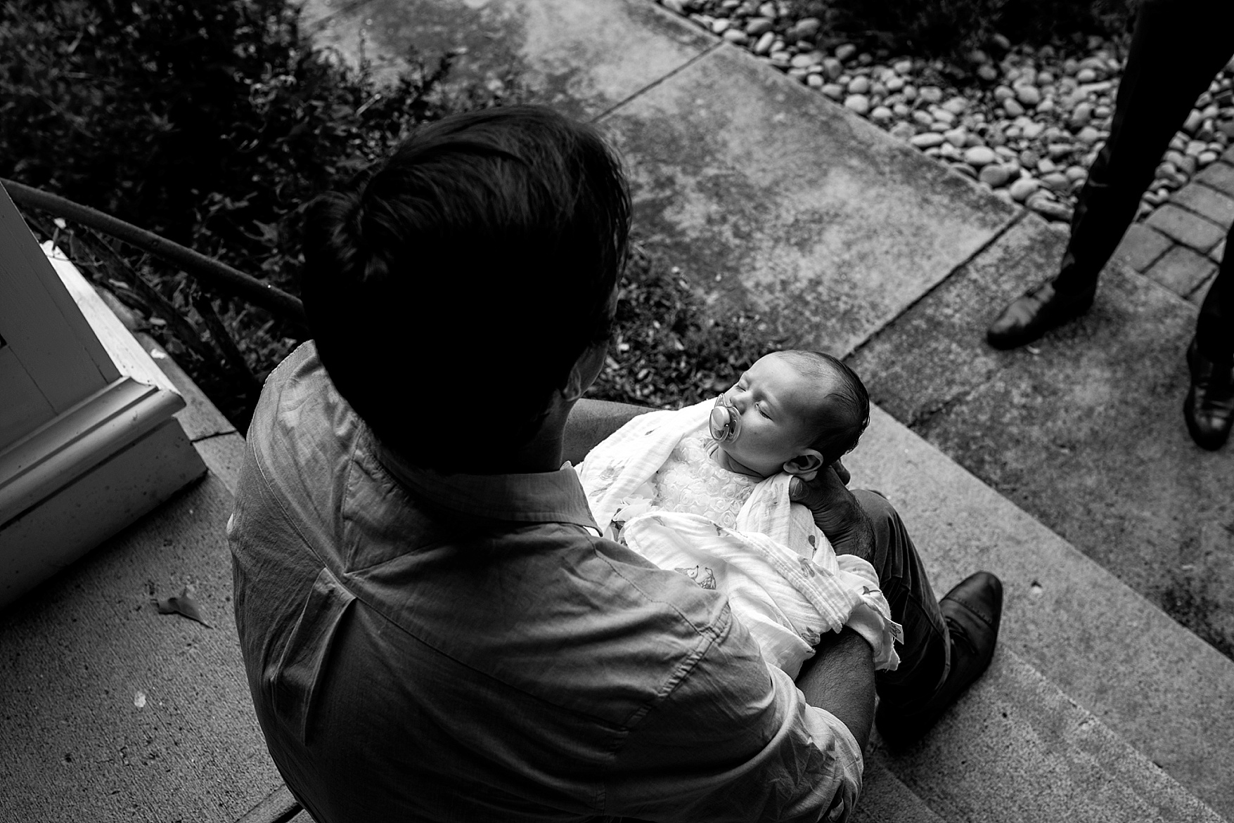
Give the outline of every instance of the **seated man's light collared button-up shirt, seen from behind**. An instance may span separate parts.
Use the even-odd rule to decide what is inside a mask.
[[[596,534],[573,469],[421,470],[311,343],[270,375],[228,523],[236,622],[318,823],[848,817],[844,724],[722,593]]]

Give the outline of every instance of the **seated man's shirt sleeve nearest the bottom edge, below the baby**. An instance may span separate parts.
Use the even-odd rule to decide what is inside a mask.
[[[847,821],[863,758],[737,621],[631,730],[606,812],[708,823]]]

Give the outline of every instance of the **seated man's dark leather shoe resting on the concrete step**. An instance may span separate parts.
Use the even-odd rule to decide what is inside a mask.
[[[1002,581],[988,571],[979,571],[960,581],[938,606],[951,639],[951,668],[934,695],[912,713],[879,703],[875,717],[879,734],[892,749],[905,748],[926,734],[990,665],[1002,619]]]

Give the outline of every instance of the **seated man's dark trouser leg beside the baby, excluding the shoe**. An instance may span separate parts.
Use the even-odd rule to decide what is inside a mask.
[[[879,697],[885,705],[912,712],[929,700],[946,675],[950,660],[946,623],[900,515],[877,492],[858,489],[853,495],[874,524],[875,550],[870,564],[879,573],[892,618],[905,629],[903,645],[896,644],[900,668],[876,675]]]

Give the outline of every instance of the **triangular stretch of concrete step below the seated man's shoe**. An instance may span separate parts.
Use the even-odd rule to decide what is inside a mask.
[[[1006,648],[924,740],[871,760],[945,821],[1222,821]]]

